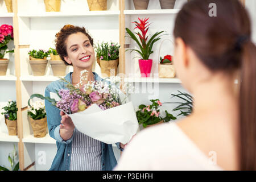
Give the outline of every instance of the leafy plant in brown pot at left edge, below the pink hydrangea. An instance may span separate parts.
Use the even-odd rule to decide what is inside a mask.
[[[5,115],[5,123],[8,128],[9,135],[18,135],[17,129],[17,111],[16,101],[8,101],[7,106],[2,107],[5,112],[1,113]]]

